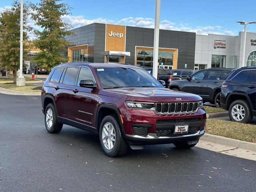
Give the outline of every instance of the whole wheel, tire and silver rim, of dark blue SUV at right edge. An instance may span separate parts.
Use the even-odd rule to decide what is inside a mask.
[[[252,112],[246,100],[236,100],[228,108],[229,118],[232,121],[248,123],[252,120]]]

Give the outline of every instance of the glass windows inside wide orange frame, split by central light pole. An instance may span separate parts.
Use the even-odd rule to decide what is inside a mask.
[[[159,66],[163,63],[164,66],[173,65],[173,52],[158,52]],[[137,50],[137,66],[153,66],[153,51]]]

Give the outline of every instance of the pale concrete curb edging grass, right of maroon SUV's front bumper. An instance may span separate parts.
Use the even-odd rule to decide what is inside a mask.
[[[200,139],[204,141],[212,142],[212,143],[218,143],[221,145],[238,148],[238,149],[256,151],[256,143],[240,141],[237,139],[231,139],[231,138],[211,135],[207,133],[205,133]]]

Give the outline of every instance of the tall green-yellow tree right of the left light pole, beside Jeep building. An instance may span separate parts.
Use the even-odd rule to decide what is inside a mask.
[[[67,62],[68,57],[60,52],[70,44],[64,37],[72,34],[68,31],[72,25],[63,21],[62,16],[70,14],[71,7],[61,0],[40,0],[31,4],[32,19],[41,29],[35,30],[34,46],[40,52],[34,56],[33,61],[40,67],[50,70],[61,62]]]

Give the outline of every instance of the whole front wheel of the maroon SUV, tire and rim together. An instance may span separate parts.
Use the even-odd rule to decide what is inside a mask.
[[[100,124],[100,144],[105,154],[110,157],[122,156],[128,149],[116,118],[108,115]]]

